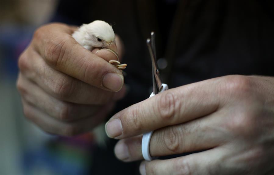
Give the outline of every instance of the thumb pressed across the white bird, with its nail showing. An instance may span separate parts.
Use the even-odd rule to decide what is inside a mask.
[[[34,45],[47,64],[60,72],[101,89],[119,91],[122,88],[122,73],[82,47],[66,25],[40,28],[34,35]]]

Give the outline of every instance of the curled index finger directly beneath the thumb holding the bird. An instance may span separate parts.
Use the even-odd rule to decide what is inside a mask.
[[[113,92],[96,88],[49,67],[35,51],[20,57],[21,72],[57,99],[81,104],[105,104]]]

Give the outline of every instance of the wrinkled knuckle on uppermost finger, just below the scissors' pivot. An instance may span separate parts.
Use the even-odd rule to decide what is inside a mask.
[[[160,96],[160,100],[157,100],[157,103],[157,113],[164,120],[174,118],[180,109],[180,100],[177,99],[176,94],[173,92],[167,92]]]

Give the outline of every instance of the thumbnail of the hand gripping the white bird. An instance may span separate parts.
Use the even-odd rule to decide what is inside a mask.
[[[124,77],[122,75],[109,72],[103,77],[102,84],[105,88],[117,92],[124,84]]]

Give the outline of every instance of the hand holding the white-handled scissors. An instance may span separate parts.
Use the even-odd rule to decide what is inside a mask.
[[[115,154],[143,159],[142,133],[154,131],[141,174],[265,174],[274,171],[274,78],[230,75],[169,89],[115,114]]]

